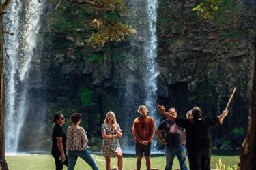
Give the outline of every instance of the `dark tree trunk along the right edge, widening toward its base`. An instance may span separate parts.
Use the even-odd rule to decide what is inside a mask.
[[[255,34],[255,51],[256,51],[256,34]],[[256,58],[256,52],[255,52]],[[248,123],[248,131],[244,143],[242,143],[242,150],[240,152],[240,160],[238,169],[240,170],[254,170],[256,167],[256,60],[253,67],[253,88],[251,91],[251,116]]]

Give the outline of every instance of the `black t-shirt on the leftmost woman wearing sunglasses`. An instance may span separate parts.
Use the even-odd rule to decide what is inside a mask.
[[[59,148],[57,146],[57,139],[56,137],[62,137],[62,144],[63,144],[63,149],[64,152],[66,151],[66,133],[63,131],[63,129],[61,128],[61,126],[59,126],[59,124],[55,124],[54,128],[53,128],[53,133],[52,133],[52,151],[53,152],[59,152]]]

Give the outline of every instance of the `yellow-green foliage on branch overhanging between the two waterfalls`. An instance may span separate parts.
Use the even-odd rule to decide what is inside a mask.
[[[83,22],[84,29],[87,35],[86,42],[94,48],[96,46],[104,46],[109,41],[122,41],[126,36],[135,33],[131,26],[124,24],[122,16],[128,12],[122,0],[66,0],[78,6],[87,7],[87,14],[79,15],[76,12],[74,20],[80,20],[77,29],[81,29]],[[56,4],[56,10],[63,14],[63,9],[68,8],[69,4],[66,1],[53,0]],[[91,15],[91,18],[88,16]],[[70,22],[74,22],[74,20]],[[85,24],[86,23],[86,24]]]

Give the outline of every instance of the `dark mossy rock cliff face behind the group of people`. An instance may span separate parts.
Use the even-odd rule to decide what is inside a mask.
[[[158,1],[157,103],[176,107],[181,117],[195,105],[201,107],[204,116],[217,116],[236,87],[229,116],[212,131],[213,140],[231,141],[233,128],[246,131],[250,114],[255,4],[226,1],[214,20],[203,20],[191,11],[198,3]],[[77,6],[76,9],[81,10]],[[45,93],[48,120],[56,112],[67,118],[73,112],[81,112],[90,145],[99,150],[101,124],[106,112],[113,110],[127,136],[121,140],[123,147],[132,147],[132,122],[139,116],[137,107],[143,104],[142,98],[147,93],[140,84],[141,70],[145,67],[140,58],[141,32],[132,37],[137,39],[136,46],[126,39],[119,44],[91,49],[85,44],[85,30],[74,29],[75,25],[70,29],[53,29],[54,7],[48,4],[45,11],[40,37],[42,57],[35,58],[40,62],[35,61],[32,68],[41,73],[44,84],[32,88]],[[75,13],[66,15],[70,16],[66,22],[72,24],[76,20]],[[127,93],[130,88],[132,95]],[[160,120],[164,119],[159,116]]]

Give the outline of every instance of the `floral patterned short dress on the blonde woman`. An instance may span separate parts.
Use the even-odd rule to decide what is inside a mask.
[[[117,131],[121,131],[119,124],[117,124]],[[102,124],[101,133],[106,133],[106,135],[115,135],[115,131],[107,123]],[[119,137],[113,137],[111,139],[103,139],[101,147],[102,156],[110,157],[115,156],[117,152],[122,152]]]

